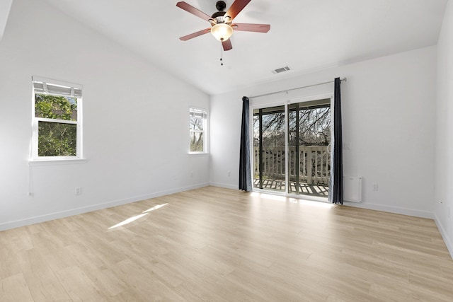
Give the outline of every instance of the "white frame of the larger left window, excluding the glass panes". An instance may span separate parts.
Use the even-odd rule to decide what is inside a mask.
[[[83,127],[82,127],[82,111],[83,111],[83,98],[82,96],[72,96],[72,95],[64,95],[58,93],[39,93],[45,95],[55,95],[55,96],[64,96],[64,97],[72,97],[77,99],[77,119],[76,121],[73,120],[59,120],[59,119],[50,119],[46,117],[36,117],[35,116],[35,86],[34,83],[48,83],[53,86],[62,86],[64,88],[70,88],[71,91],[74,89],[82,90],[82,86],[75,83],[69,83],[64,81],[57,81],[53,79],[45,79],[38,76],[32,77],[32,144],[31,144],[31,154],[30,154],[30,162],[52,162],[52,161],[79,161],[84,160],[83,157],[83,146],[82,146],[82,135],[83,135]],[[38,137],[39,137],[39,122],[53,122],[58,124],[75,124],[76,125],[76,155],[75,156],[39,156],[38,153]]]

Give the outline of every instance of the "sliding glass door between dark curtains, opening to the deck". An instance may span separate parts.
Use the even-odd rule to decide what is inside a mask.
[[[331,99],[253,110],[253,186],[327,197]]]

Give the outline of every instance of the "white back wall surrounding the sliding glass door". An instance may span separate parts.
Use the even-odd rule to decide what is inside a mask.
[[[211,183],[237,188],[241,98],[333,81],[342,83],[344,174],[363,177],[362,204],[433,217],[436,47],[276,80],[211,97]],[[278,76],[276,76],[276,79]],[[333,84],[258,102],[333,93]],[[231,171],[228,177],[227,171]],[[373,191],[377,182],[379,190]]]

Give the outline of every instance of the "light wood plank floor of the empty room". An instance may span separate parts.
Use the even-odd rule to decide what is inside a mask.
[[[0,265],[0,301],[453,301],[430,219],[218,187],[0,232]]]

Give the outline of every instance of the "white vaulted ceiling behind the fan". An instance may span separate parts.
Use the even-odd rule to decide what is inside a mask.
[[[212,35],[179,37],[210,23],[177,0],[46,0],[174,76],[213,94],[437,44],[447,0],[252,0],[236,23],[270,24],[269,33],[235,32],[224,52]],[[216,0],[186,0],[211,15]],[[226,8],[233,0],[225,0]],[[273,74],[282,66],[292,71]]]

